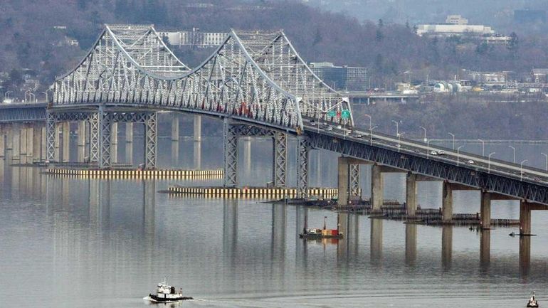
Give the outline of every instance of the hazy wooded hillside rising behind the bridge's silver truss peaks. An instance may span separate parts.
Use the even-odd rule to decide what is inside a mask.
[[[78,63],[103,23],[154,23],[159,31],[283,28],[305,60],[370,68],[371,84],[379,87],[427,75],[453,78],[459,68],[526,73],[548,67],[548,36],[515,36],[510,46],[427,39],[416,36],[413,25],[361,22],[300,1],[4,0],[0,10],[0,71],[36,74],[43,85]],[[80,46],[63,43],[65,36]],[[196,65],[204,51],[179,55]],[[6,81],[4,90],[19,85]]]

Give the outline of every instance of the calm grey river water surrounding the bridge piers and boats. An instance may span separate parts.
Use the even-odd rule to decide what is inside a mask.
[[[201,160],[194,159],[198,149],[191,140],[179,142],[177,157],[169,140],[159,142],[162,166],[222,166],[221,139],[204,138]],[[546,145],[515,146],[518,161],[543,166]],[[270,181],[271,143],[242,140],[240,147],[241,183]],[[135,148],[137,164],[142,150]],[[467,149],[481,151],[477,144]],[[487,144],[487,151],[512,159],[507,144]],[[294,157],[292,143],[289,161]],[[294,184],[295,166],[289,169]],[[312,152],[311,186],[335,186],[336,171],[335,154]],[[311,227],[321,227],[327,216],[334,228],[336,214],[159,192],[221,180],[72,179],[40,172],[0,160],[0,307],[145,307],[142,297],[164,277],[196,298],[177,307],[525,307],[530,290],[537,290],[541,304],[548,297],[544,212],[533,212],[537,236],[530,255],[520,255],[520,240],[507,236],[512,228],[491,230],[482,242],[481,233],[468,228],[362,215],[341,217],[344,240],[304,242],[298,233],[305,212]],[[368,174],[364,166],[366,197]],[[385,198],[403,201],[404,176],[387,174],[385,181]],[[479,211],[479,193],[455,192],[454,198],[455,213]],[[421,182],[418,203],[438,208],[441,185]],[[515,201],[493,203],[493,218],[518,215]]]

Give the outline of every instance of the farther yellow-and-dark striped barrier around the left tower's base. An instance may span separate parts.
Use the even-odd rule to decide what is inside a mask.
[[[223,169],[211,170],[137,170],[48,168],[44,174],[83,179],[223,179]]]

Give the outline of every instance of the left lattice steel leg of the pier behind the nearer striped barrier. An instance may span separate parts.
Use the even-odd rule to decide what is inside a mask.
[[[223,120],[224,186],[238,185],[238,125]]]

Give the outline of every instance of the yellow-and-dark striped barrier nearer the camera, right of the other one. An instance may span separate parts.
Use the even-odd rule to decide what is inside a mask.
[[[182,187],[171,186],[168,191],[174,196],[196,196],[206,198],[295,198],[297,188],[225,188],[225,187]],[[332,198],[339,193],[337,188],[309,188],[308,195]]]

